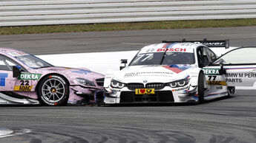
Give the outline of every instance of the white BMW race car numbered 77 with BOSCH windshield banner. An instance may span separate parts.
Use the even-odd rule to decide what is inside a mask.
[[[128,66],[105,75],[105,104],[203,102],[234,94],[236,85],[227,86],[223,66],[206,67],[217,60],[209,47],[229,48],[229,41],[163,41],[143,47]]]

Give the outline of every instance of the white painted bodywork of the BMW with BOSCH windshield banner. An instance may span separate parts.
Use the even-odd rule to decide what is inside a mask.
[[[141,66],[127,66],[125,69],[116,72],[108,72],[105,75],[105,100],[107,104],[120,103],[122,92],[134,92],[128,87],[112,88],[111,80],[117,80],[121,83],[142,83],[144,87],[148,83],[170,83],[177,80],[188,78],[189,83],[184,87],[171,88],[165,86],[158,91],[171,91],[174,98],[173,102],[197,102],[198,101],[198,76],[201,68],[198,67],[197,61],[197,47],[203,46],[197,43],[175,43],[171,48],[167,49],[167,43],[157,43],[145,46],[141,49],[139,54],[151,52],[191,52],[194,53],[195,63],[189,65],[141,65]],[[170,43],[169,43],[170,44]],[[151,58],[148,55],[147,58]],[[205,99],[211,100],[216,97],[226,96],[228,94],[226,86],[211,86],[206,83],[207,77],[204,77]]]

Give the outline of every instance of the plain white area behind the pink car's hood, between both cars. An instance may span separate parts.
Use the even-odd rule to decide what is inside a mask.
[[[105,74],[109,69],[119,70],[120,60],[128,59],[128,62],[138,51],[125,52],[91,52],[79,54],[59,54],[59,55],[38,55],[54,66],[65,66],[71,68],[88,68]]]

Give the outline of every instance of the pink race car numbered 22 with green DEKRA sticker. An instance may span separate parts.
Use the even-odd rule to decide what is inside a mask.
[[[56,67],[33,55],[0,48],[0,104],[84,105],[102,102],[104,76]]]

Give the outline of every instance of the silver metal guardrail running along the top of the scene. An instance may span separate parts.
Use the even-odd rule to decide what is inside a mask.
[[[255,0],[0,0],[0,27],[256,18]]]

